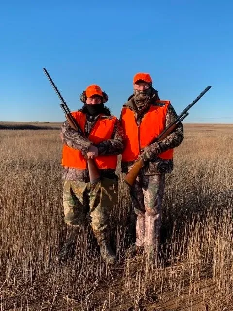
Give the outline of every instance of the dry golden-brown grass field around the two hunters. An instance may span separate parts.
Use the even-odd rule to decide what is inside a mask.
[[[185,124],[154,264],[127,252],[135,216],[118,172],[113,268],[100,259],[88,218],[75,258],[55,265],[65,233],[60,124],[29,125],[0,123],[0,310],[233,310],[233,124]]]

